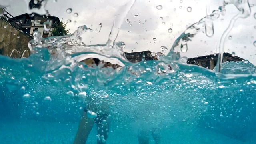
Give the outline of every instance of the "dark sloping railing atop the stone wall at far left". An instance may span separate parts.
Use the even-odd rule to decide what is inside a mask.
[[[9,12],[5,11],[3,16],[1,16],[0,18],[2,18],[4,21],[8,22],[10,25],[14,26],[17,30],[19,30],[26,36],[33,39],[33,35],[30,34],[30,32],[27,29],[22,28],[22,23],[20,23],[18,20],[16,20]]]

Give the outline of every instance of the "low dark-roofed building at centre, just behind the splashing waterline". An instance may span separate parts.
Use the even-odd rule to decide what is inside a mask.
[[[125,56],[130,62],[133,62],[133,63],[154,59],[154,56],[151,55],[151,52],[149,50],[142,51],[142,52],[133,52],[132,51],[131,53],[125,52]]]

